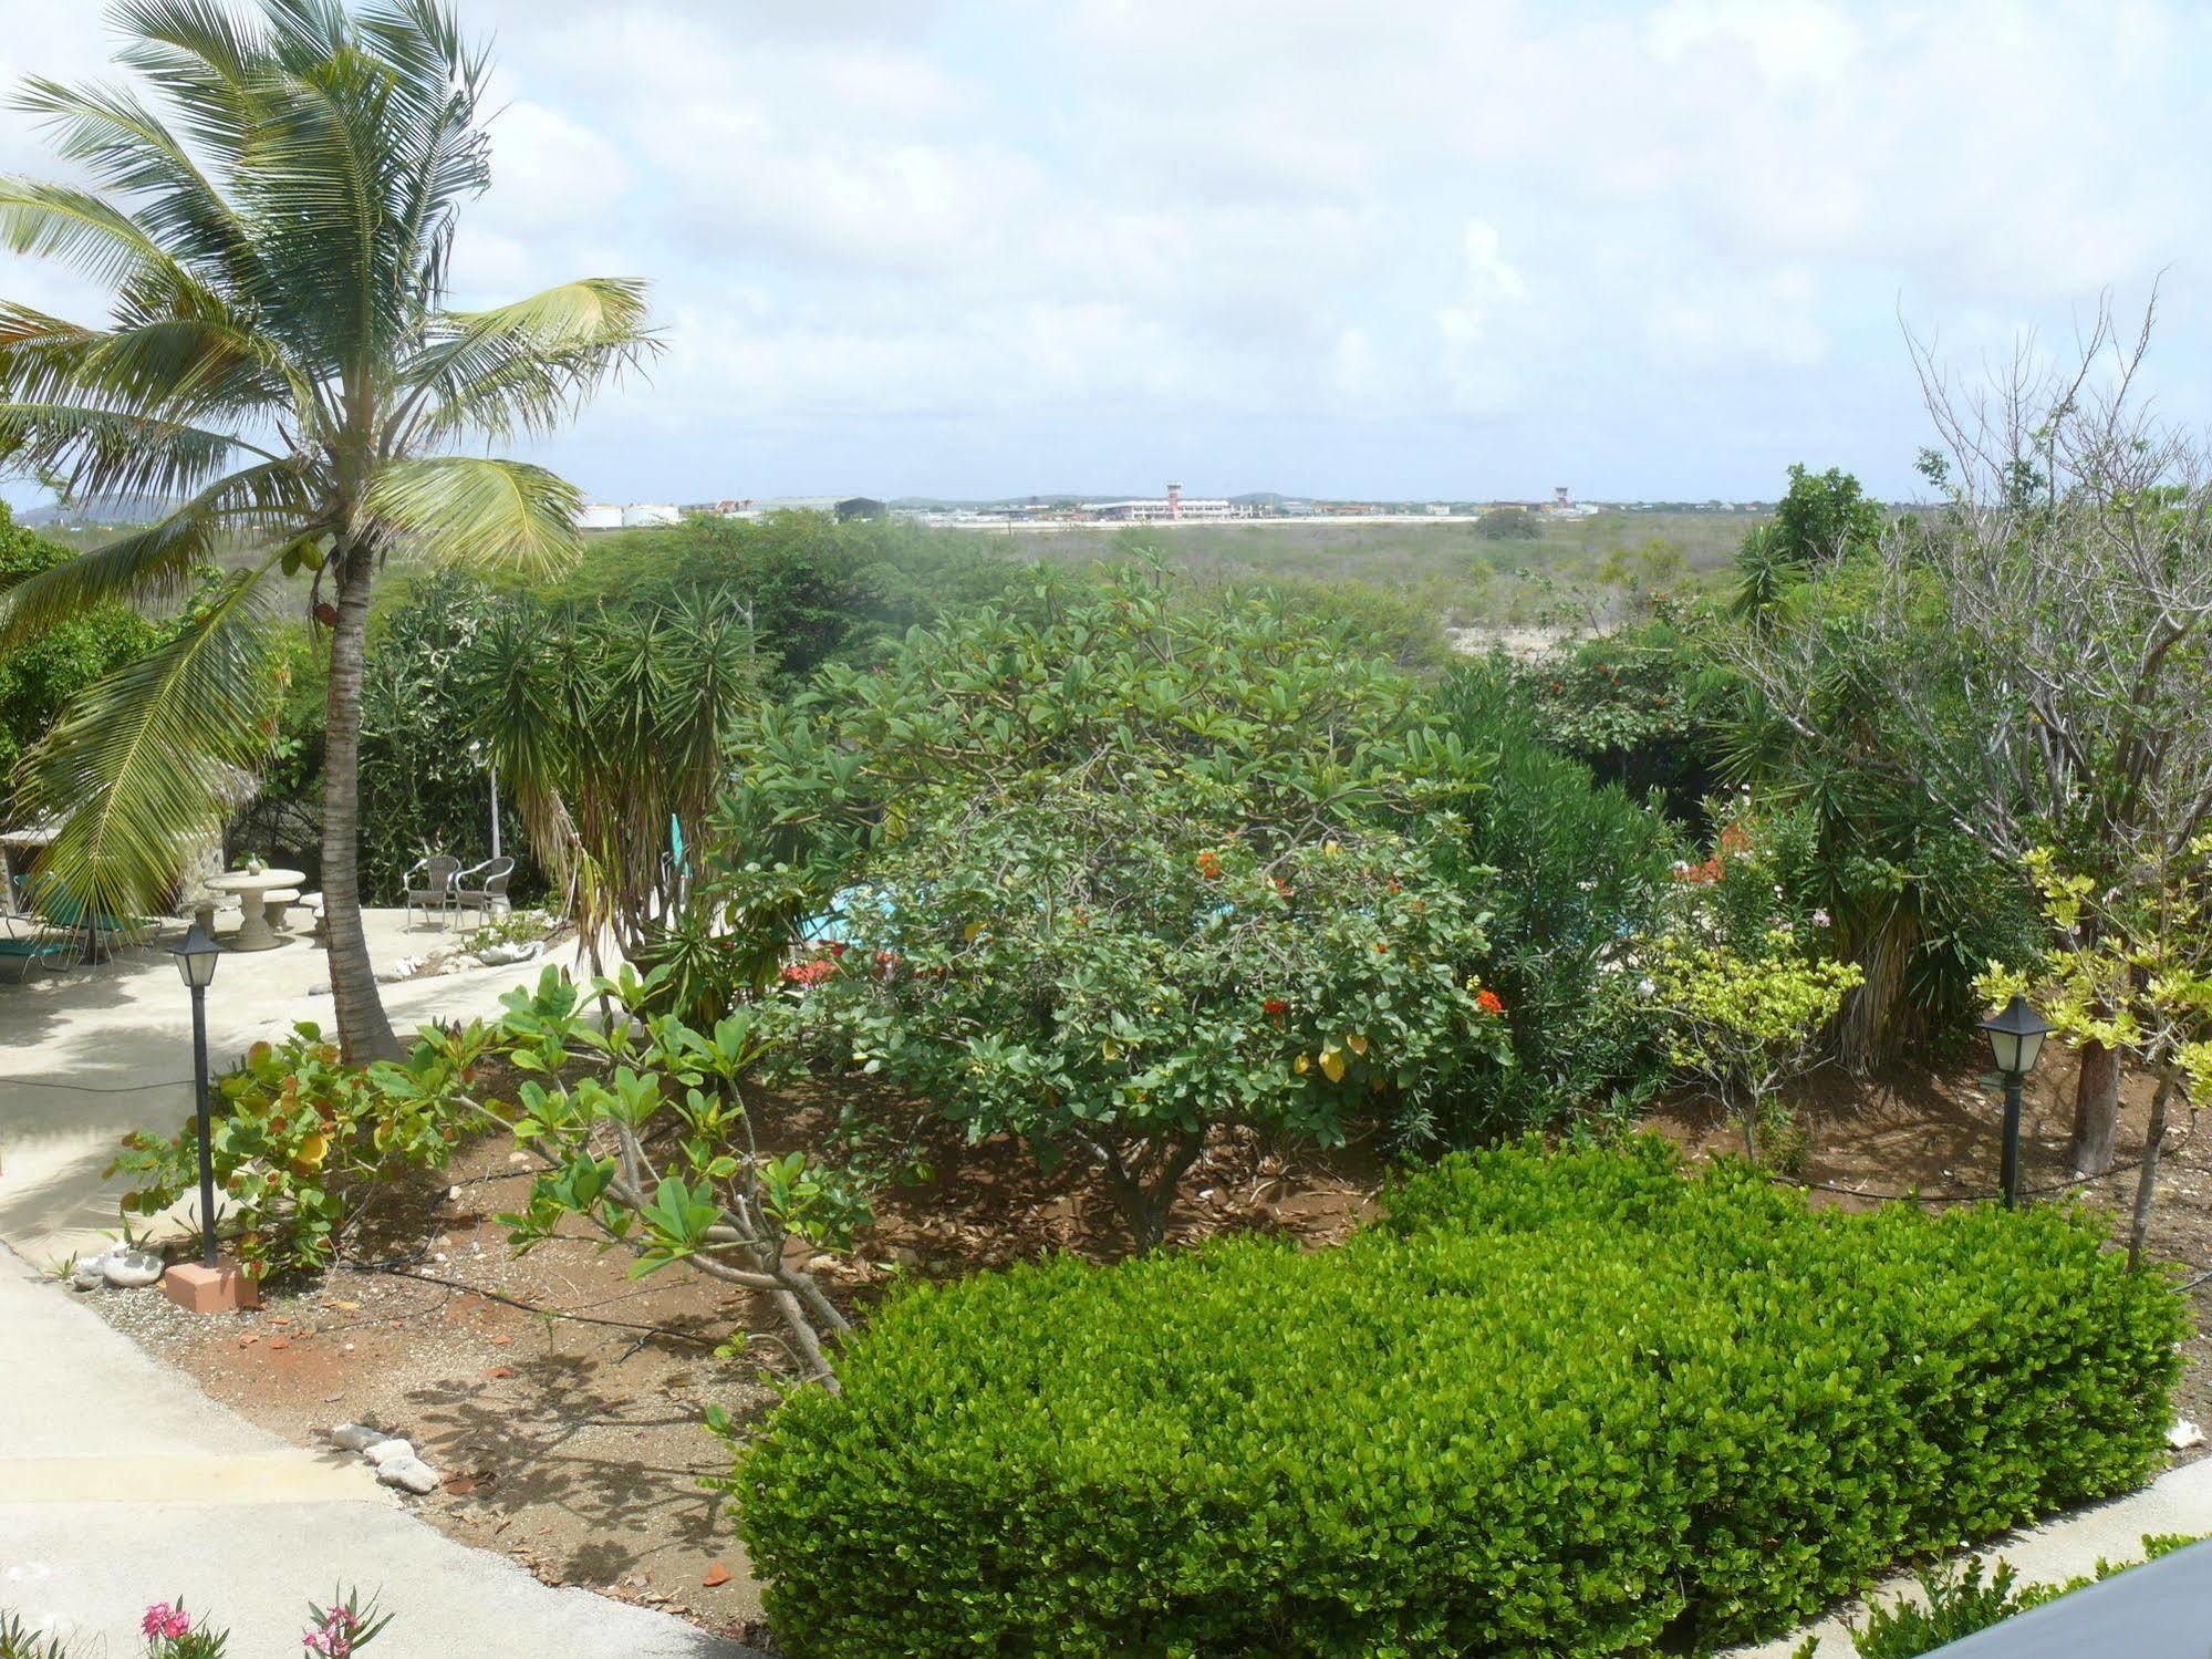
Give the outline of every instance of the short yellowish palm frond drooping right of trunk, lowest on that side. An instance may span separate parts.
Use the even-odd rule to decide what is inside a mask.
[[[453,564],[553,573],[582,549],[582,491],[520,460],[394,460],[369,480],[365,507],[380,529]]]

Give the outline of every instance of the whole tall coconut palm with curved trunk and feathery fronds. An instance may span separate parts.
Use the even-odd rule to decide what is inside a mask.
[[[330,630],[338,1033],[356,1060],[389,1055],[356,863],[369,588],[392,553],[573,557],[571,484],[458,451],[549,431],[637,363],[653,345],[644,285],[445,305],[489,139],[487,58],[442,0],[124,0],[111,15],[119,60],[170,119],[115,86],[31,80],[18,97],[91,188],[0,179],[0,246],[66,261],[115,303],[106,327],[0,303],[0,467],[71,498],[179,504],[0,595],[0,644],[97,599],[188,608],[168,644],[80,697],[15,805],[62,821],[46,872],[80,905],[153,909],[177,847],[221,821],[265,754],[270,622],[285,577],[307,577]]]

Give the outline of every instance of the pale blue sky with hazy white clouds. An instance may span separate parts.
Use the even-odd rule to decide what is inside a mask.
[[[1907,332],[1973,383],[2154,290],[2150,387],[2212,411],[2197,0],[458,9],[456,303],[653,283],[650,378],[531,451],[595,500],[1905,498]],[[0,0],[0,82],[111,42]],[[0,170],[53,175],[24,115]],[[4,252],[0,299],[102,310]]]

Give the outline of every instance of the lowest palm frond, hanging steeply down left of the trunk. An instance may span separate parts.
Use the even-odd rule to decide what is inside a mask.
[[[230,577],[175,639],[86,686],[24,757],[13,810],[60,825],[35,869],[75,905],[159,909],[192,845],[237,805],[268,750],[270,568]]]

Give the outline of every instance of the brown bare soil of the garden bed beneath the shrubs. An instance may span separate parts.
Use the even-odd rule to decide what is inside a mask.
[[[2141,1155],[2146,1095],[2135,1084],[2126,1093],[2121,1166]],[[2028,1088],[2024,1186],[2068,1181],[2070,1099],[2073,1066],[2053,1053]],[[1798,1177],[1814,1203],[1995,1188],[2000,1106],[1971,1064],[1876,1079],[1818,1073],[1796,1106]],[[774,1115],[779,1139],[796,1144],[827,1106],[799,1093]],[[1734,1124],[1697,1099],[1666,1106],[1650,1126],[1692,1159],[1741,1146]],[[2150,1248],[2194,1274],[2212,1267],[2212,1148],[2190,1130],[2170,1133]],[[1117,1217],[1084,1172],[1046,1177],[1015,1146],[918,1133],[933,1179],[885,1192],[854,1256],[816,1261],[847,1310],[865,1314],[900,1274],[956,1276],[1057,1250],[1126,1254]],[[1183,1183],[1170,1241],[1265,1230],[1334,1243],[1369,1217],[1383,1175],[1371,1148],[1318,1155],[1221,1133]],[[728,1504],[699,1484],[728,1473],[728,1451],[699,1420],[710,1402],[741,1425],[774,1405],[785,1358],[770,1310],[681,1267],[630,1281],[626,1256],[584,1239],[513,1259],[493,1214],[522,1201],[526,1175],[500,1141],[473,1146],[442,1179],[449,1186],[385,1206],[394,1219],[356,1245],[383,1267],[338,1267],[321,1285],[272,1294],[261,1312],[197,1321],[150,1294],[93,1301],[212,1396],[299,1444],[323,1444],[338,1422],[409,1436],[447,1475],[420,1500],[442,1531],[504,1551],[546,1582],[765,1644]],[[2066,1190],[2112,1210],[2126,1234],[2130,1168]],[[2190,1294],[2212,1325],[2208,1290]],[[757,1340],[717,1354],[732,1334]],[[2212,1338],[2192,1338],[2185,1358],[2179,1411],[2212,1422]]]

